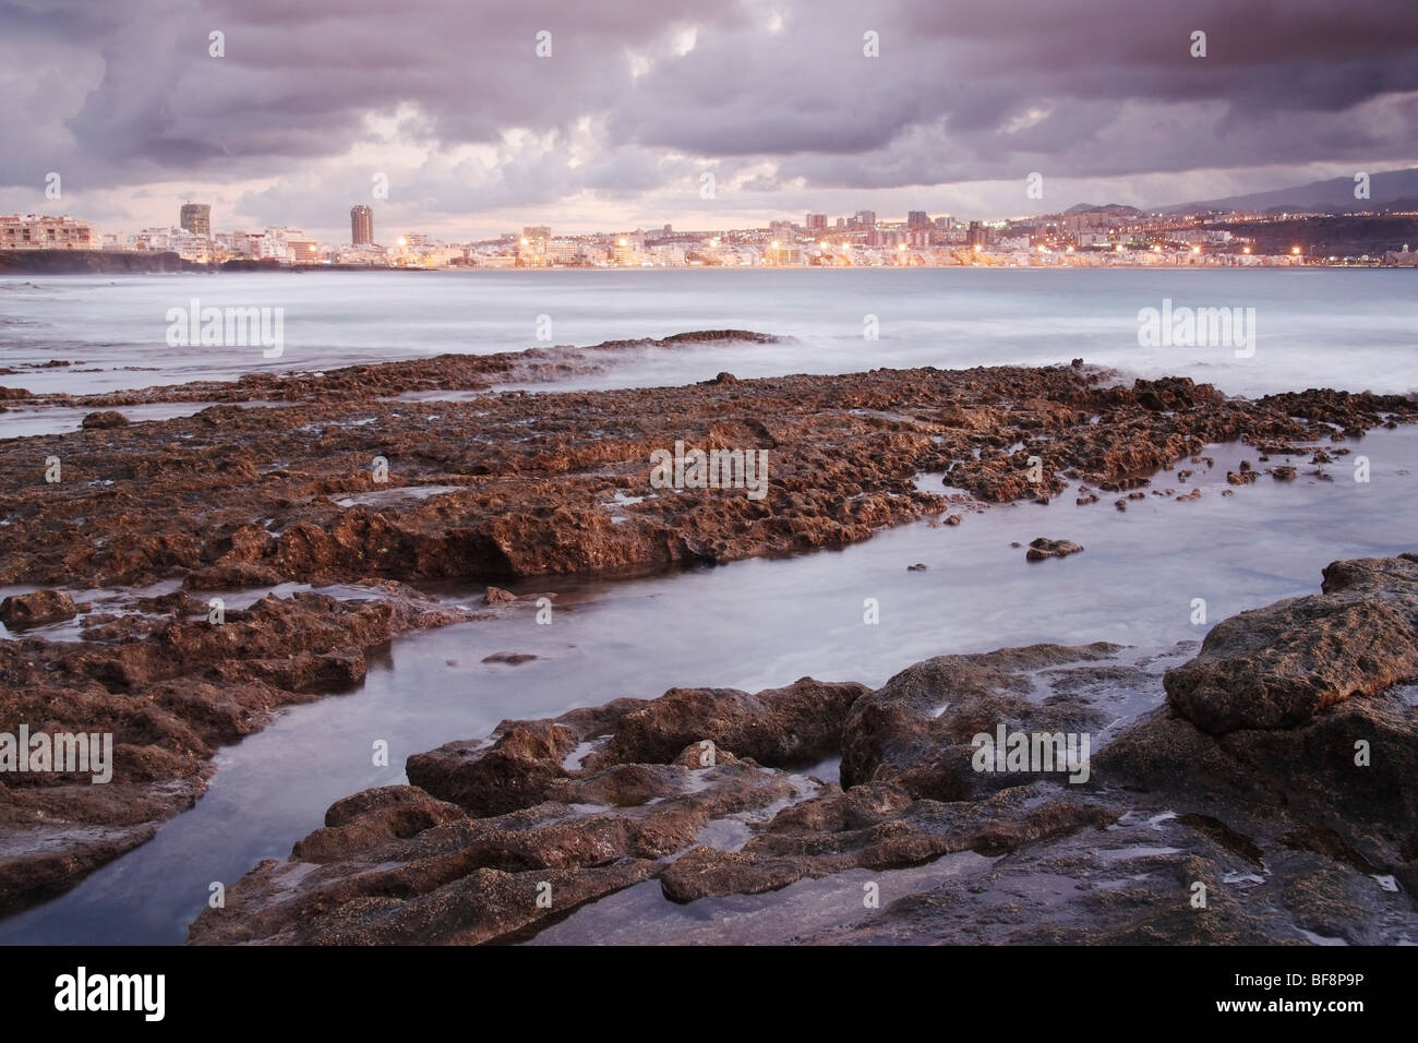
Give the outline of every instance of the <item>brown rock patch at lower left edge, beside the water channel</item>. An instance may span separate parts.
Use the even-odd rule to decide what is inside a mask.
[[[95,624],[82,641],[0,641],[0,731],[112,735],[108,782],[4,773],[0,911],[58,894],[150,839],[206,790],[218,746],[259,731],[281,707],[357,684],[366,650],[467,619],[398,583],[369,593],[268,596],[220,623],[179,593]]]

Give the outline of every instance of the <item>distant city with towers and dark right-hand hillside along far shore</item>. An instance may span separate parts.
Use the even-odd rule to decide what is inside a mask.
[[[373,207],[350,209],[350,241],[323,243],[299,228],[213,231],[211,207],[183,203],[179,223],[102,234],[69,216],[0,216],[0,250],[99,250],[176,254],[194,264],[254,263],[377,268],[800,268],[800,267],[1092,267],[1356,265],[1418,267],[1398,238],[1418,211],[1144,213],[1079,204],[1056,214],[963,221],[912,210],[879,220],[810,213],[761,228],[634,228],[554,236],[545,224],[496,238],[448,243],[406,230],[376,241]]]

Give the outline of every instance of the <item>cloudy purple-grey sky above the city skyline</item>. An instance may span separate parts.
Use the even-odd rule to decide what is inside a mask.
[[[1418,162],[1409,3],[0,0],[0,211],[345,241],[369,203],[390,241],[1215,199]]]

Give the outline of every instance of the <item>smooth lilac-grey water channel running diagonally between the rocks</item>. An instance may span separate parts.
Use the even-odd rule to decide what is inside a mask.
[[[1075,507],[1071,491],[1049,507],[966,512],[959,526],[906,525],[793,559],[520,583],[519,595],[559,595],[552,624],[513,606],[501,619],[396,640],[370,657],[359,691],[294,707],[223,749],[196,807],[67,895],[0,922],[0,942],[180,942],[211,881],[230,884],[261,859],[285,859],[333,800],[403,782],[410,754],[485,736],[503,718],[652,698],[674,685],[752,691],[804,675],[879,685],[930,656],[1034,641],[1109,640],[1143,651],[1198,641],[1239,610],[1317,592],[1332,561],[1418,551],[1418,429],[1347,444],[1370,458],[1368,484],[1354,482],[1350,458],[1340,457],[1327,467],[1333,481],[1302,467],[1293,482],[1265,475],[1222,497],[1225,471],[1255,460],[1254,450],[1224,446],[1207,450],[1217,465],[1202,465],[1190,484],[1154,478],[1178,494],[1200,485],[1197,502],[1149,495],[1123,514],[1116,497]],[[1010,543],[1035,536],[1086,549],[1028,563]],[[908,572],[915,562],[929,569]],[[462,596],[474,600],[471,590]],[[879,602],[876,626],[862,622],[866,597]],[[1207,626],[1191,623],[1197,597],[1207,602]],[[539,658],[482,663],[498,651]],[[376,739],[389,742],[389,768],[372,765]]]

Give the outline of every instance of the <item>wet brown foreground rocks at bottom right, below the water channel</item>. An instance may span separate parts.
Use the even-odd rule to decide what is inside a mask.
[[[1408,605],[1414,563],[1336,562],[1317,597]],[[1262,612],[1313,641],[1332,623],[1306,600]],[[1344,698],[1211,734],[1173,678],[1236,664],[1229,687],[1188,688],[1187,712],[1314,683],[1263,643],[1208,646],[1170,671],[1183,649],[1031,646],[926,660],[875,691],[804,678],[505,721],[410,758],[410,786],[332,806],[189,942],[1412,941],[1418,685],[1357,647],[1332,680]],[[1164,684],[1132,727],[1102,724]],[[1086,779],[967,762],[971,732],[1076,729],[1095,739]],[[793,771],[834,749],[839,779]]]

